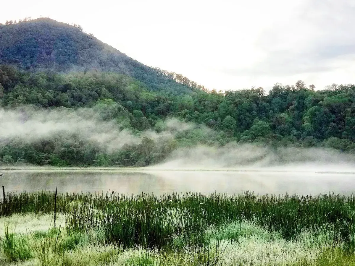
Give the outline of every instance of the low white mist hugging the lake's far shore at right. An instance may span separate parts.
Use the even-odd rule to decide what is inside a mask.
[[[234,170],[285,172],[354,172],[355,156],[332,149],[278,148],[230,143],[223,147],[178,149],[149,169]]]

